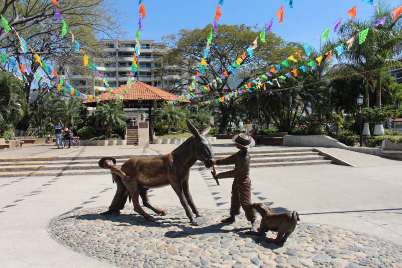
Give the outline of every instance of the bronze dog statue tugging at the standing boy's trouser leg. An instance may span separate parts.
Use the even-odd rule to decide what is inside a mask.
[[[262,235],[266,231],[278,232],[275,239],[266,238],[265,241],[273,243],[284,243],[287,237],[294,231],[297,221],[300,220],[298,213],[290,212],[273,213],[273,209],[265,207],[262,203],[253,203],[253,208],[260,213],[262,219],[258,232],[246,232],[247,234]]]

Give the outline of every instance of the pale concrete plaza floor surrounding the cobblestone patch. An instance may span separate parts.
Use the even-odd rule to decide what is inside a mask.
[[[174,144],[81,146],[55,149],[24,145],[1,158],[138,155],[167,153]],[[283,147],[256,146],[252,150]],[[335,148],[319,148],[356,167],[311,165],[251,170],[252,201],[276,211],[296,210],[304,222],[319,222],[402,244],[402,161]],[[229,140],[214,152],[235,152]],[[229,209],[232,180],[217,186],[210,170],[190,171],[190,191],[199,208]],[[0,178],[0,263],[2,267],[112,267],[66,248],[48,235],[48,221],[77,208],[109,206],[116,186],[110,175]],[[180,206],[170,187],[150,195],[155,206]],[[132,205],[127,205],[132,208]],[[134,213],[134,212],[133,212]]]

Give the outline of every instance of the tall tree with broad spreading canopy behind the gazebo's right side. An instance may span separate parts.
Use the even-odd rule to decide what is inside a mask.
[[[184,77],[181,84],[176,86],[173,92],[185,90],[191,83],[192,78],[197,72],[198,64],[204,57],[207,37],[212,26],[208,25],[204,29],[181,30],[177,35],[166,38],[169,51],[163,58],[166,66],[175,66],[181,71]],[[231,66],[241,54],[251,45],[253,40],[259,35],[256,27],[245,25],[219,25],[217,34],[213,36],[210,45],[209,57],[206,59],[205,73],[197,82],[199,87],[203,87],[221,75]],[[280,37],[269,33],[266,42],[258,41],[258,47],[254,50],[253,57],[246,57],[242,62],[242,67],[236,68],[233,79],[227,77],[222,79],[222,83],[210,86],[208,94],[196,95],[195,102],[211,100],[225,95],[248,82],[250,78],[263,74],[267,67],[278,62],[285,55],[290,54],[295,45],[286,43]],[[172,68],[172,67],[170,67]],[[222,112],[222,121],[219,133],[225,133],[233,111],[236,111],[234,100],[219,103]]]

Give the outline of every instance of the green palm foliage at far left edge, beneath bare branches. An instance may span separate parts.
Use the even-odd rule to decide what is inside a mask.
[[[0,130],[17,123],[27,111],[24,84],[11,73],[0,72]]]

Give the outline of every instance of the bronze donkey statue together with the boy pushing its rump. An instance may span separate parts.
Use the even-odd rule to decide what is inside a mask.
[[[127,201],[127,195],[133,200],[134,211],[141,214],[149,221],[154,218],[147,214],[140,206],[138,196],[141,196],[145,207],[157,214],[165,215],[166,212],[152,206],[148,199],[147,191],[150,188],[171,185],[180,199],[191,224],[197,225],[192,213],[201,217],[192,200],[188,187],[190,167],[197,161],[203,161],[207,168],[214,164],[214,155],[211,144],[205,135],[211,129],[208,126],[202,133],[186,120],[188,129],[193,134],[171,153],[150,158],[134,157],[127,160],[120,168],[113,157],[103,157],[99,160],[99,166],[111,169],[114,182],[117,183],[117,191],[109,210],[102,214],[120,213]],[[112,163],[113,161],[114,163]],[[191,210],[190,210],[191,208]],[[192,211],[192,213],[191,213]]]

